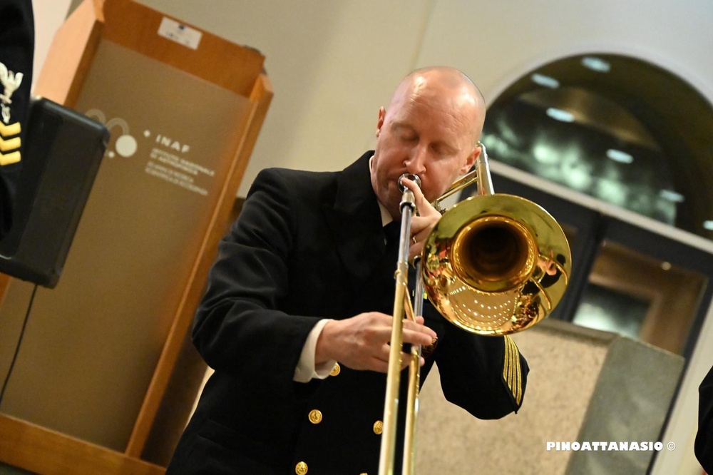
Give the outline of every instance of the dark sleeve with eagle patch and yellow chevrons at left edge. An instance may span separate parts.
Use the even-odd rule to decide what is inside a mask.
[[[31,0],[0,2],[0,237],[12,225],[34,58]]]

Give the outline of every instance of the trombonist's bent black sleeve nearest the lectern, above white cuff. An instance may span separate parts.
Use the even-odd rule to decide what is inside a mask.
[[[298,226],[294,203],[287,180],[263,170],[220,242],[193,326],[193,342],[213,369],[292,383],[304,342],[321,320],[279,310]]]

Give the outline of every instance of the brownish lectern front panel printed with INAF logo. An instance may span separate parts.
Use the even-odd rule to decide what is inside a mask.
[[[75,108],[111,139],[63,278],[37,293],[2,409],[123,451],[251,108],[107,40]],[[4,308],[22,307],[24,285]]]

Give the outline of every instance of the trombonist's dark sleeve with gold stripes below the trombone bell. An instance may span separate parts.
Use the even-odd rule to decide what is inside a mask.
[[[529,368],[513,339],[447,328],[436,356],[446,399],[479,419],[517,412]]]

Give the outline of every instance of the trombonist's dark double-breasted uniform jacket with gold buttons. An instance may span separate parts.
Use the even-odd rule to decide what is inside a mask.
[[[342,365],[293,380],[319,319],[393,310],[396,255],[386,255],[371,155],[342,172],[256,178],[195,317],[193,342],[215,373],[168,474],[376,474],[386,374]],[[464,332],[428,302],[424,317],[438,344],[421,382],[435,362],[446,399],[474,416],[520,407],[528,366],[509,337]]]

